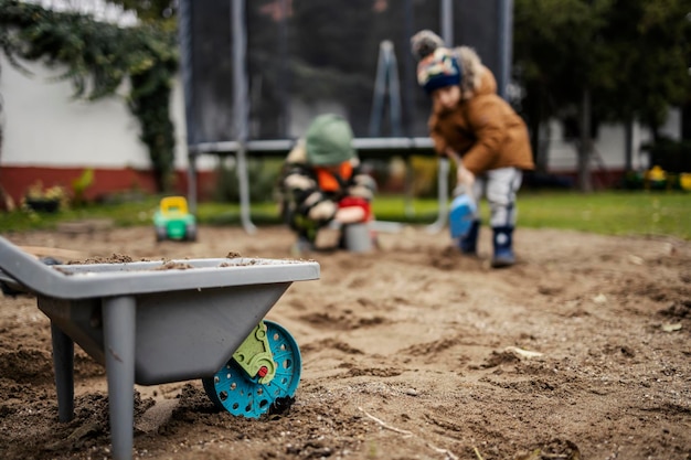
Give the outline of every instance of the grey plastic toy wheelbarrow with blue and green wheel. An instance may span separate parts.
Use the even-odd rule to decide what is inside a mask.
[[[0,237],[0,280],[51,320],[60,421],[74,415],[74,342],[105,365],[115,459],[131,458],[135,383],[201,378],[253,418],[293,398],[299,349],[263,319],[294,281],[318,278],[315,261],[241,257],[49,266]]]

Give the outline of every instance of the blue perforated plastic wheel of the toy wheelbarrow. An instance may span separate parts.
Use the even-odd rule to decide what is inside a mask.
[[[209,398],[221,409],[235,416],[258,418],[269,410],[281,410],[295,397],[302,359],[298,344],[278,323],[264,321],[269,349],[276,362],[276,375],[267,384],[259,376],[251,377],[231,359],[213,377],[202,378]]]

